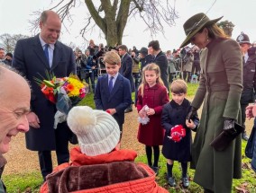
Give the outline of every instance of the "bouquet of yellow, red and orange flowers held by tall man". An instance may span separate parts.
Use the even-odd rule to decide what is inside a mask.
[[[52,103],[56,104],[55,126],[66,120],[69,110],[86,97],[88,91],[87,83],[79,80],[77,75],[57,78],[46,72],[47,79],[34,78],[41,87],[41,92]]]

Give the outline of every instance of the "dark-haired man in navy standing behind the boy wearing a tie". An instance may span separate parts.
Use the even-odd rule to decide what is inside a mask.
[[[131,92],[135,92],[135,84],[133,81],[133,58],[127,53],[128,48],[125,45],[118,47],[118,53],[122,57],[119,73],[130,81]],[[130,105],[124,112],[133,111],[133,104]]]

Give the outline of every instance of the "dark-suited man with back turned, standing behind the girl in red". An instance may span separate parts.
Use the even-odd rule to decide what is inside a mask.
[[[158,40],[151,40],[148,46],[149,53],[155,57],[153,60],[158,66],[160,66],[160,78],[162,79],[165,87],[169,92],[169,81],[168,81],[168,60],[166,55],[160,49],[160,43]]]

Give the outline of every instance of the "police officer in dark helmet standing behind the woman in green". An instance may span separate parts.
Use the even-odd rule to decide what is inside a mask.
[[[256,55],[255,52],[251,53],[251,43],[248,35],[241,33],[236,41],[239,43],[242,51],[242,95],[241,95],[241,110],[242,110],[242,126],[245,127],[245,108],[250,102],[254,101],[256,91]],[[248,141],[246,132],[242,134],[242,139]]]

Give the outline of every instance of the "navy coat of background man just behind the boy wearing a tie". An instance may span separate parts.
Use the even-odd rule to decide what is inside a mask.
[[[133,81],[133,71],[132,70],[133,70],[133,58],[128,53],[126,53],[122,57],[119,73],[130,81],[131,91],[135,92],[135,84]]]

